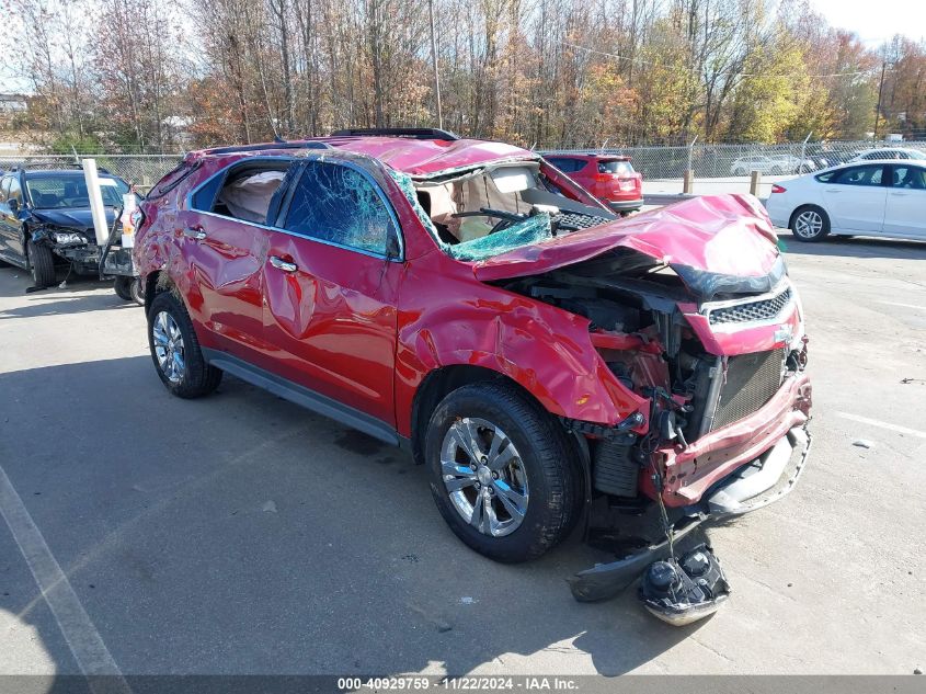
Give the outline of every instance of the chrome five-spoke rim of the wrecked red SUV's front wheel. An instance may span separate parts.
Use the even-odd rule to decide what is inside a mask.
[[[483,535],[516,531],[527,513],[527,470],[514,443],[484,419],[458,418],[444,435],[441,471],[450,502]]]

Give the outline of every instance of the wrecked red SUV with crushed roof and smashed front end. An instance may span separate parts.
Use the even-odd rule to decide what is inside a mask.
[[[194,151],[140,209],[171,392],[227,372],[407,446],[493,559],[602,498],[740,513],[803,464],[801,306],[753,197],[619,220],[528,150],[390,129]]]

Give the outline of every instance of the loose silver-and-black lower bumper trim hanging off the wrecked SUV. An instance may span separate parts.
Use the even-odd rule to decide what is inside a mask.
[[[803,473],[811,437],[805,424],[785,434],[748,465],[708,489],[699,503],[684,510],[673,525],[676,546],[698,527],[734,515],[742,515],[778,501],[791,492]],[[599,564],[568,579],[572,595],[580,602],[614,598],[632,583],[653,561],[670,555],[668,541],[662,539],[609,564]]]

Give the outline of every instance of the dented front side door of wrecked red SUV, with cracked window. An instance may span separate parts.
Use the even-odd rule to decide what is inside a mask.
[[[265,340],[279,375],[395,426],[401,234],[370,172],[307,161],[271,234]]]

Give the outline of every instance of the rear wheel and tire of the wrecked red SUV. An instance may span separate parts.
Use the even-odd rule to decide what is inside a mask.
[[[215,390],[222,372],[203,356],[186,307],[170,292],[158,294],[148,311],[148,346],[161,382],[180,398]]]

